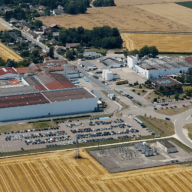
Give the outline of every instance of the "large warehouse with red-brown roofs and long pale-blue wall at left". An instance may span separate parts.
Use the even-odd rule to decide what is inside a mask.
[[[97,110],[97,97],[61,74],[45,73],[22,80],[20,91],[0,94],[0,121],[77,114]],[[26,89],[29,87],[29,89]]]

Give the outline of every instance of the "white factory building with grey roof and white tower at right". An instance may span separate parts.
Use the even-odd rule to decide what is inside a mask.
[[[191,63],[179,57],[149,58],[147,56],[139,60],[138,57],[128,56],[127,65],[136,72],[143,74],[147,79],[180,74],[192,67]]]

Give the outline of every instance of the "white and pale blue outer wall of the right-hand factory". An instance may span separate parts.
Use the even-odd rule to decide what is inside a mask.
[[[182,67],[182,68],[172,68],[172,69],[163,69],[163,70],[151,70],[148,71],[146,69],[143,69],[139,67],[139,65],[135,65],[135,68],[137,71],[141,74],[143,74],[147,79],[150,78],[157,78],[160,75],[171,75],[171,74],[177,74],[180,73],[181,71],[186,72],[188,70],[187,67]]]

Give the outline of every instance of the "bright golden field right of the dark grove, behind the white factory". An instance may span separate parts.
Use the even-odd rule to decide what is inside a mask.
[[[123,47],[156,46],[160,52],[192,52],[192,35],[122,33]]]

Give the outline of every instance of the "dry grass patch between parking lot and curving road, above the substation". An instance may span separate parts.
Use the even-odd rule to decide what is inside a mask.
[[[138,118],[155,134],[160,134],[161,137],[175,134],[174,125],[170,121],[145,116],[138,116]]]

